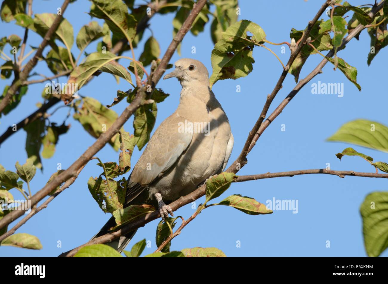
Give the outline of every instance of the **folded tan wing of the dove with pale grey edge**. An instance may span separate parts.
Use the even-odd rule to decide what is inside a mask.
[[[131,182],[150,184],[163,175],[189,146],[193,133],[182,130],[184,118],[173,113],[156,129],[139,161],[133,168]]]

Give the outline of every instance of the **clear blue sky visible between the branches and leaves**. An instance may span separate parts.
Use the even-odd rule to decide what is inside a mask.
[[[304,29],[322,3],[323,0],[240,1],[239,19],[248,19],[259,24],[267,34],[267,40],[271,42],[289,41],[291,28]],[[353,0],[351,3],[361,5],[366,2]],[[56,13],[57,7],[61,4],[62,1],[58,0],[34,0],[33,12],[34,14]],[[81,26],[92,20],[86,14],[89,8],[90,2],[78,0],[70,4],[64,13],[64,17],[73,25],[74,36]],[[151,29],[160,44],[162,55],[171,42],[173,17],[173,14],[156,15],[151,21]],[[327,19],[327,16],[323,15],[322,18]],[[102,24],[100,20],[97,19],[97,21]],[[0,36],[14,33],[22,37],[24,34],[24,30],[14,23],[0,23],[0,31],[2,31]],[[135,50],[137,58],[142,53],[144,42],[149,36],[151,31],[146,30],[139,48]],[[41,40],[35,33],[29,33],[28,44],[37,46]],[[96,42],[92,43],[86,51],[94,52],[95,46]],[[192,46],[196,47],[196,54],[191,53]],[[189,33],[184,38],[182,57],[191,57],[203,62],[211,73],[210,54],[213,46],[209,23],[204,32],[197,37]],[[281,54],[280,46],[268,47],[276,52],[284,63],[287,62],[288,48],[285,54]],[[362,87],[361,92],[339,70],[334,71],[333,66],[327,64],[323,73],[308,83],[267,128],[249,153],[248,164],[238,174],[325,168],[326,163],[330,163],[332,170],[374,171],[374,168],[360,158],[344,157],[342,161],[336,158],[335,154],[346,147],[354,147],[378,161],[388,161],[387,154],[383,152],[344,143],[325,142],[325,139],[336,132],[341,125],[353,119],[365,118],[388,125],[386,117],[388,94],[385,87],[388,49],[381,50],[368,67],[369,47],[369,35],[363,31],[359,41],[353,39],[346,49],[338,54],[348,64],[357,67],[357,82]],[[27,48],[28,51],[29,48]],[[49,48],[46,48],[45,52],[48,51]],[[75,57],[79,53],[75,43],[72,52]],[[272,92],[282,71],[281,65],[268,50],[256,47],[253,56],[256,62],[249,76],[238,80],[218,81],[213,87],[213,92],[229,117],[234,134],[235,143],[230,162],[234,161],[240,153],[248,132],[258,118],[267,95]],[[179,58],[175,53],[170,63]],[[320,55],[310,56],[303,66],[300,78],[310,73],[321,60]],[[129,62],[124,60],[120,62],[124,66],[129,65]],[[39,62],[34,71],[51,74],[44,62]],[[312,94],[311,85],[318,81],[343,83],[343,97]],[[10,82],[10,80],[0,81],[0,89],[3,90]],[[65,79],[62,78],[60,82],[65,82]],[[240,93],[236,92],[236,85],[241,86]],[[294,86],[294,78],[289,74],[283,88],[274,99],[269,113]],[[35,104],[42,102],[43,88],[44,83],[29,86],[28,94],[19,106],[0,119],[0,132],[4,132],[9,125],[19,122],[21,118],[35,111]],[[124,80],[120,80],[120,84],[117,85],[112,75],[103,73],[83,87],[80,94],[94,97],[106,105],[113,101],[116,90],[128,88],[130,86]],[[158,88],[168,92],[170,97],[158,104],[156,126],[175,110],[180,93],[180,85],[175,79],[161,80]],[[121,102],[112,109],[120,114],[125,106],[126,102]],[[66,114],[67,109],[62,108],[50,120],[61,123]],[[133,118],[130,118],[125,123],[126,131],[133,132],[132,122]],[[60,137],[54,156],[51,159],[43,159],[43,172],[38,170],[31,182],[33,192],[46,184],[50,175],[56,171],[57,163],[62,163],[62,168],[68,168],[95,141],[72,117],[67,120],[67,123],[71,124],[69,132]],[[285,124],[286,131],[281,131],[282,124]],[[24,150],[25,140],[26,132],[19,130],[2,144],[0,163],[6,169],[14,170],[16,161],[25,162],[27,158]],[[137,149],[133,153],[133,165],[140,154]],[[115,152],[110,145],[106,145],[96,156],[104,162],[118,160],[118,152]],[[71,187],[17,231],[37,236],[43,244],[42,250],[2,246],[0,255],[57,256],[87,242],[110,215],[100,210],[87,188],[88,178],[97,176],[100,171],[96,162],[90,161]],[[271,215],[251,216],[227,206],[213,206],[204,210],[182,230],[182,233],[172,241],[171,250],[200,246],[219,248],[227,256],[366,256],[359,207],[369,192],[383,190],[387,190],[385,179],[339,178],[328,175],[304,175],[235,183],[216,201],[231,194],[254,197],[262,203],[274,197],[292,199],[298,200],[298,213],[274,211]],[[21,198],[16,190],[12,190],[12,193],[15,198]],[[196,204],[203,201],[204,198],[201,198]],[[194,209],[190,204],[174,212],[176,216],[181,215],[185,218],[192,213]],[[151,248],[145,248],[143,255],[152,253],[156,249],[155,232],[158,222],[159,220],[154,220],[140,228],[127,249],[145,238],[150,241]],[[16,222],[12,223],[10,227],[15,224]],[[61,248],[57,247],[58,241],[61,241]],[[330,248],[326,248],[326,241],[330,241]],[[236,246],[237,242],[241,247]],[[388,252],[386,251],[382,256],[388,256]]]

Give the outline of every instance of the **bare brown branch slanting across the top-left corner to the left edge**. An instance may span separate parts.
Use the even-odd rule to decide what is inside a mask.
[[[26,81],[28,74],[31,72],[31,70],[35,67],[36,63],[38,62],[38,59],[42,57],[43,49],[47,46],[49,43],[52,35],[54,35],[56,29],[58,28],[59,24],[62,21],[63,13],[66,10],[66,7],[68,7],[70,0],[65,0],[62,4],[62,13],[60,15],[57,15],[54,19],[54,22],[50,26],[49,30],[47,31],[45,37],[43,38],[42,43],[39,45],[38,50],[36,50],[36,53],[33,58],[28,61],[26,64],[26,67],[24,67],[23,71],[20,73],[19,79],[14,81],[9,88],[7,94],[4,96],[2,101],[0,102],[0,113],[2,113],[3,109],[8,105],[11,97],[16,94],[17,90],[21,85],[23,85],[23,82]]]

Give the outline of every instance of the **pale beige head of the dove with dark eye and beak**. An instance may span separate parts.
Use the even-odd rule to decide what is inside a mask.
[[[175,62],[175,70],[166,74],[163,79],[176,77],[182,86],[192,83],[209,85],[208,69],[195,59],[182,58]]]

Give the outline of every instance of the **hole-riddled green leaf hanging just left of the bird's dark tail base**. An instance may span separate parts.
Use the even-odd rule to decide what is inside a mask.
[[[88,188],[93,198],[99,204],[105,213],[113,213],[115,210],[122,209],[125,201],[126,180],[122,178],[119,181],[103,180],[99,178],[89,178]]]

